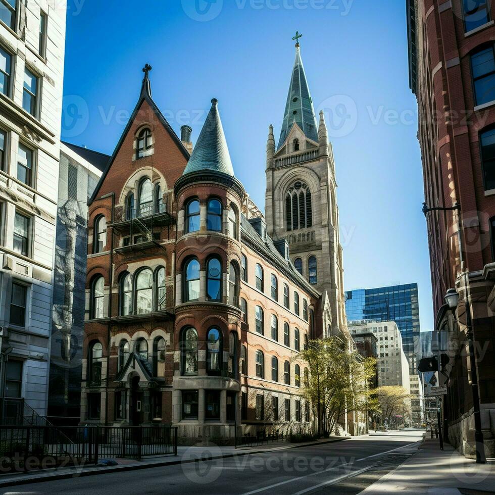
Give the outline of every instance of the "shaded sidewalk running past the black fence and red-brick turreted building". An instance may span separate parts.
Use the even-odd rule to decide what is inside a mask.
[[[75,478],[79,476],[92,476],[97,474],[115,473],[120,471],[130,471],[135,469],[147,469],[174,464],[198,462],[201,460],[212,460],[249,454],[264,454],[287,449],[297,449],[310,445],[332,443],[348,440],[351,437],[334,436],[321,440],[314,440],[303,443],[279,442],[270,445],[260,445],[259,447],[218,447],[217,445],[206,445],[203,447],[177,447],[177,456],[155,456],[147,457],[141,461],[135,459],[112,459],[118,463],[117,466],[95,466],[89,464],[80,467],[67,467],[50,470],[38,470],[30,473],[0,474],[0,487],[17,484],[37,483],[42,481],[52,481],[57,479]]]

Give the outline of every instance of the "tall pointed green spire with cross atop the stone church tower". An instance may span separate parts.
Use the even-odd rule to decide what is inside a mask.
[[[285,142],[293,123],[295,122],[304,132],[307,138],[318,142],[318,127],[316,126],[315,110],[313,100],[308,88],[308,81],[304,73],[303,61],[299,46],[299,38],[302,35],[296,34],[295,62],[290,80],[289,94],[285,105],[282,130],[278,141],[277,150]],[[294,38],[293,38],[294,39]]]

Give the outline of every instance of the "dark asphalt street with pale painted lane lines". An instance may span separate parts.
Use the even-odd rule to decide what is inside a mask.
[[[420,431],[391,432],[236,458],[11,486],[0,492],[12,495],[359,493],[408,459],[421,436]]]

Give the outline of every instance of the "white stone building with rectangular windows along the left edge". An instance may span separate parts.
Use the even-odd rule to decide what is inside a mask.
[[[45,416],[66,8],[0,0],[0,414]],[[25,406],[23,405],[25,404]]]

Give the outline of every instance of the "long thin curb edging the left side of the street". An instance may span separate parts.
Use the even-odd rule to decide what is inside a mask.
[[[39,471],[36,471],[36,474],[30,475],[28,477],[19,477],[18,479],[9,479],[9,480],[2,480],[0,478],[0,488],[4,488],[7,486],[14,486],[14,485],[25,485],[25,484],[31,484],[31,483],[42,483],[43,481],[55,481],[59,479],[70,479],[70,478],[79,478],[83,476],[95,476],[98,474],[111,474],[111,473],[118,473],[120,471],[135,471],[138,469],[150,469],[150,468],[157,468],[157,467],[162,467],[162,466],[174,466],[177,464],[188,464],[192,462],[199,462],[199,461],[213,461],[216,459],[228,459],[232,457],[241,457],[241,456],[248,456],[252,454],[266,454],[270,452],[278,452],[281,450],[288,450],[288,449],[301,449],[303,447],[312,447],[313,445],[324,445],[326,443],[333,443],[333,442],[339,442],[343,440],[350,440],[351,437],[342,437],[342,438],[332,438],[331,440],[322,440],[322,441],[315,441],[311,443],[303,443],[303,444],[292,444],[289,443],[288,445],[283,445],[282,447],[278,448],[273,448],[269,450],[257,450],[257,451],[250,451],[250,452],[236,452],[232,454],[222,454],[220,456],[212,456],[212,457],[199,457],[197,459],[187,459],[187,460],[182,460],[182,459],[177,459],[173,461],[169,460],[164,460],[164,461],[157,461],[157,462],[150,462],[150,463],[143,463],[143,464],[128,464],[128,465],[120,465],[120,466],[100,466],[100,467],[92,467],[92,468],[87,468],[83,470],[80,473],[47,473],[47,474],[42,474],[39,473]]]

